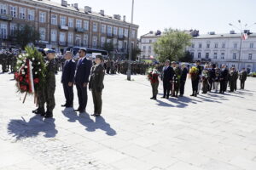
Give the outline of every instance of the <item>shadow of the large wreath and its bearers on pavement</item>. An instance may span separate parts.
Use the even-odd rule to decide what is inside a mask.
[[[44,133],[45,138],[54,138],[58,131],[55,129],[55,119],[44,119],[42,116],[33,116],[29,122],[13,119],[8,124],[8,133],[16,139],[32,138]]]

